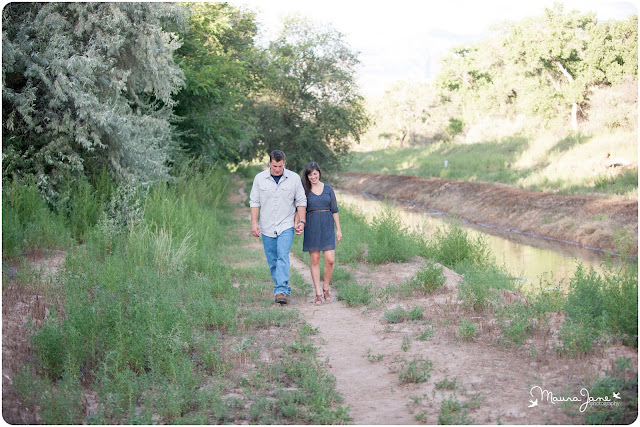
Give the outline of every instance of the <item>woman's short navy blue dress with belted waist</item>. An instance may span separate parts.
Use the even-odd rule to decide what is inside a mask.
[[[321,211],[321,212],[314,212]],[[307,224],[304,227],[304,252],[331,251],[336,248],[336,232],[333,214],[338,212],[338,202],[333,188],[324,184],[319,196],[313,191],[307,196]]]

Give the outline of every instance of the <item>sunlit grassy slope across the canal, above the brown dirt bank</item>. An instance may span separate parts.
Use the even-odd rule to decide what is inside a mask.
[[[547,133],[472,144],[437,142],[359,151],[354,153],[348,170],[637,198],[637,141],[637,131],[620,130],[594,135]]]

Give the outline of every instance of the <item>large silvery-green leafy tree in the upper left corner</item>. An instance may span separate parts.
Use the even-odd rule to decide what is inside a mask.
[[[3,178],[32,174],[50,202],[107,166],[120,180],[168,179],[176,149],[170,3],[9,3],[2,12]]]

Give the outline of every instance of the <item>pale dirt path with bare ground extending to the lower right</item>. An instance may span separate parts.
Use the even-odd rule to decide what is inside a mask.
[[[384,286],[415,274],[419,265],[414,260],[376,269],[360,267],[354,273],[365,283],[375,277],[377,286]],[[307,265],[295,256],[292,268],[312,283]],[[637,367],[637,353],[623,346],[579,359],[558,356],[552,343],[543,343],[546,338],[542,334],[532,337],[526,350],[499,346],[495,321],[462,310],[457,304],[460,276],[446,268],[444,271],[447,282],[442,292],[392,300],[376,308],[347,307],[337,301],[335,291],[333,301],[322,306],[312,304],[313,295],[295,298],[292,308],[300,310],[319,331],[319,355],[337,379],[343,404],[351,407],[351,424],[438,424],[445,401],[461,405],[473,424],[583,424],[578,405],[567,408],[545,403],[530,409],[531,387],[539,385],[556,395],[579,396],[580,388],[611,369],[618,357],[630,357],[632,366]],[[385,322],[384,310],[398,305],[407,311],[423,307],[425,322]],[[470,342],[461,340],[457,333],[462,317],[479,326]],[[417,338],[428,329],[433,331],[430,338]],[[539,353],[532,356],[531,348]],[[431,361],[429,380],[402,384],[398,372],[415,359]]]

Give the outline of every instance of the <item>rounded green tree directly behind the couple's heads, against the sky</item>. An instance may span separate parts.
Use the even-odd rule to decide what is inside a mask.
[[[266,61],[254,109],[259,136],[250,157],[279,148],[292,169],[311,160],[339,168],[368,124],[355,81],[356,53],[336,30],[290,17]]]

